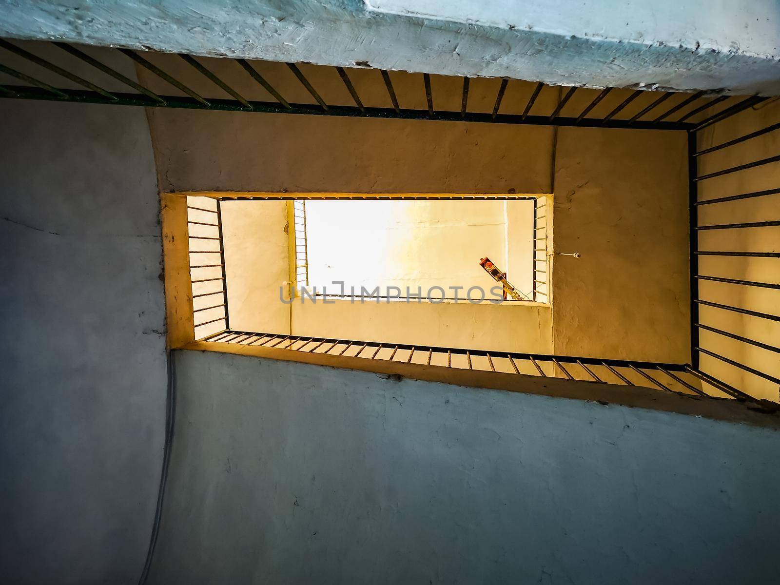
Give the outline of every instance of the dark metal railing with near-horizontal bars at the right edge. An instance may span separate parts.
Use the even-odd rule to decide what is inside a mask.
[[[780,261],[780,250],[778,250],[778,244],[780,244],[780,205],[778,206],[764,206],[760,209],[771,210],[771,217],[764,221],[750,221],[750,222],[722,222],[722,223],[704,223],[700,222],[700,212],[703,209],[711,210],[711,206],[723,206],[726,204],[734,203],[729,210],[729,215],[739,214],[745,212],[746,205],[756,202],[764,197],[771,197],[780,193],[780,166],[775,165],[774,171],[768,172],[766,176],[772,179],[775,184],[770,189],[756,190],[746,193],[731,193],[722,197],[711,197],[707,199],[700,198],[700,186],[709,182],[711,179],[723,176],[736,176],[736,180],[732,184],[742,183],[745,172],[749,169],[765,167],[766,165],[772,165],[780,161],[780,154],[776,152],[767,153],[768,156],[763,156],[757,160],[749,161],[740,165],[732,165],[726,168],[721,168],[717,171],[706,172],[700,174],[699,163],[703,161],[707,155],[720,152],[729,153],[729,149],[734,149],[739,144],[745,144],[750,140],[754,140],[758,137],[762,137],[768,133],[776,132],[780,129],[780,122],[775,122],[762,129],[743,134],[742,136],[733,138],[732,140],[726,140],[720,144],[716,144],[711,147],[697,149],[697,133],[702,129],[706,129],[718,122],[722,122],[729,118],[731,115],[735,115],[739,112],[743,112],[747,108],[756,106],[759,101],[749,97],[740,102],[732,108],[728,108],[726,112],[722,112],[718,115],[713,115],[711,118],[700,122],[690,133],[688,139],[688,156],[689,156],[689,178],[690,178],[690,260],[691,260],[691,361],[693,367],[700,369],[700,361],[702,356],[707,356],[720,363],[727,364],[728,367],[723,367],[723,371],[727,375],[736,374],[737,371],[743,371],[753,376],[757,383],[760,381],[768,381],[770,385],[774,385],[775,389],[780,391],[780,378],[772,375],[768,371],[765,371],[766,364],[774,364],[775,371],[780,375],[780,347],[777,344],[773,345],[767,342],[761,342],[757,339],[746,337],[745,335],[738,335],[736,332],[727,331],[722,328],[722,325],[718,323],[722,321],[725,314],[739,314],[742,320],[740,324],[743,328],[751,328],[751,325],[759,325],[762,321],[764,324],[774,321],[780,322],[780,293],[774,293],[775,312],[773,314],[764,312],[761,310],[755,310],[754,297],[750,294],[746,294],[750,289],[769,289],[780,290],[780,279],[777,278],[780,275],[780,266],[775,265],[774,270],[763,270],[762,275],[770,277],[769,280],[750,280],[746,278],[729,278],[728,276],[719,275],[722,271],[729,271],[729,267],[723,266],[722,263],[711,262],[709,269],[703,274],[700,270],[700,264],[703,257],[711,259],[737,259],[732,265],[732,270],[736,268],[743,272],[749,271],[750,263],[754,258],[767,258],[769,262],[777,263]],[[753,143],[755,144],[755,143]],[[737,155],[739,157],[739,154]],[[708,184],[708,183],[707,183]],[[731,250],[737,246],[743,246],[739,243],[740,238],[734,237],[737,232],[754,232],[755,230],[771,230],[775,229],[777,237],[774,239],[768,238],[767,241],[774,241],[775,246],[772,250]],[[700,247],[701,240],[708,233],[718,234],[717,243],[716,238],[707,238],[710,243],[704,249]],[[729,243],[730,234],[732,242],[736,240],[737,243]],[[772,280],[772,276],[775,277]],[[711,296],[714,293],[713,287],[703,286],[704,283],[720,283],[724,285],[721,290],[718,290],[718,299],[721,302],[717,302],[716,298]],[[728,302],[723,301],[723,297],[729,299]],[[711,307],[714,311],[708,311],[707,315],[703,315],[700,307]],[[759,329],[767,329],[773,331],[769,327],[757,327]],[[780,326],[774,326],[774,331],[780,332]],[[700,332],[708,332],[714,334],[709,336],[709,342],[703,341]],[[714,346],[714,340],[730,339],[736,344],[732,344],[728,351],[718,349]],[[722,343],[718,343],[721,346]],[[726,344],[723,347],[729,347]],[[744,351],[749,348],[757,348],[759,351]],[[718,349],[716,351],[715,349]],[[722,353],[720,353],[722,352]],[[724,355],[726,353],[727,355]],[[740,357],[743,356],[743,357]],[[712,363],[712,362],[711,362]],[[729,371],[729,369],[731,370]],[[701,372],[704,374],[704,372]],[[708,374],[704,374],[708,375]],[[736,376],[735,376],[736,377]],[[740,376],[741,377],[741,376]],[[766,382],[761,382],[765,385]],[[753,386],[753,384],[750,384]],[[771,387],[771,386],[770,386]]]

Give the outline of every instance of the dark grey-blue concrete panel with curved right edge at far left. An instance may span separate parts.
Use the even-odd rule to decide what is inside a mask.
[[[147,122],[31,101],[0,118],[0,581],[137,583],[167,380]]]

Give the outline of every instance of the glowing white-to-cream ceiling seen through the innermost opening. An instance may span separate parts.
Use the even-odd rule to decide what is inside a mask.
[[[508,228],[505,207],[517,202],[504,200],[395,200],[395,201],[307,201],[307,246],[310,286],[339,293],[344,282],[371,291],[397,286],[401,295],[434,298],[452,297],[450,287],[461,287],[466,297],[472,286],[481,287],[484,296],[495,299],[491,288],[498,283],[480,266],[490,257],[503,271],[507,266]],[[526,209],[526,211],[530,211]],[[533,213],[533,211],[530,211]],[[527,213],[527,215],[529,215]],[[524,228],[524,229],[523,229]],[[516,225],[516,239],[530,239],[530,216]],[[530,261],[525,274],[512,272],[509,279],[527,285]],[[519,278],[524,276],[523,282]],[[500,287],[500,285],[498,285]],[[521,289],[526,294],[530,287]],[[393,291],[391,291],[391,294]],[[397,293],[395,293],[397,295]],[[476,292],[474,298],[479,299]],[[501,298],[500,295],[498,298]]]

